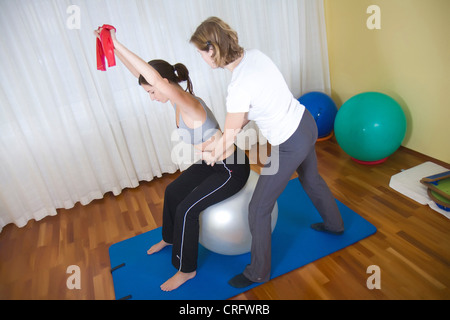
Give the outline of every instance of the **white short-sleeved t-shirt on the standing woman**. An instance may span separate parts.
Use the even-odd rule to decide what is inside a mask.
[[[255,49],[244,51],[228,85],[227,112],[248,112],[275,146],[294,133],[304,110],[269,57]]]

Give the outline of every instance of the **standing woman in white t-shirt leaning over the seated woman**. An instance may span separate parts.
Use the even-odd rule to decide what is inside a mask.
[[[344,223],[317,169],[314,118],[293,97],[272,60],[258,50],[240,47],[236,31],[217,17],[202,22],[190,42],[213,69],[232,72],[224,132],[215,149],[203,153],[203,159],[210,165],[221,160],[223,150],[234,143],[248,121],[254,120],[272,146],[270,164],[278,162],[276,172],[272,172],[269,163],[262,169],[249,204],[251,263],[229,281],[230,285],[243,288],[270,279],[271,212],[294,172],[323,219],[311,227],[340,235]]]

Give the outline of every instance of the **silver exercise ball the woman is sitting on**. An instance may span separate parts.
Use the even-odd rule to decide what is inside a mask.
[[[250,171],[246,185],[235,195],[203,210],[200,214],[199,242],[225,255],[250,252],[252,236],[248,225],[248,204],[259,174]],[[278,218],[278,204],[272,211],[272,231]]]

